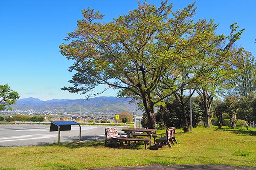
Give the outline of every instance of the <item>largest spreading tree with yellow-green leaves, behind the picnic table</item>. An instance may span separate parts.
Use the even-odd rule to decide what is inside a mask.
[[[61,54],[74,61],[69,71],[76,71],[69,81],[73,87],[62,89],[88,94],[98,85],[117,88],[119,96],[142,101],[148,127],[155,128],[154,105],[206,71],[202,66],[183,82],[179,68],[202,61],[215,67],[199,54],[227,38],[215,35],[213,20],[194,23],[194,6],[173,12],[167,1],[158,8],[138,3],[137,9],[108,23],[97,22],[104,17],[98,11],[82,10],[84,19],[68,34],[67,44],[60,45]]]

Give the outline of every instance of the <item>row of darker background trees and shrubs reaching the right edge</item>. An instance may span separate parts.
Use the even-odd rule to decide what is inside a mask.
[[[236,128],[237,117],[244,119],[245,122],[256,120],[256,64],[254,57],[244,48],[232,48],[230,52],[233,59],[230,60],[230,69],[226,71],[229,74],[225,79],[220,77],[216,81],[207,82],[208,87],[211,87],[208,88],[208,91],[201,88],[199,84],[194,85],[193,92],[196,92],[198,97],[192,102],[193,126],[198,124],[198,120],[203,120],[204,125],[209,127],[209,118],[214,115],[218,119],[219,127],[222,127],[223,119],[225,119],[223,114],[228,115],[232,128]],[[183,91],[186,90],[183,89]],[[183,127],[187,131],[189,129],[187,122],[190,118],[189,99],[188,93],[183,94],[181,90],[180,93],[176,92],[173,97],[167,99],[165,105],[160,106],[157,114],[159,125],[175,125]],[[214,104],[213,109],[211,109],[212,103]]]

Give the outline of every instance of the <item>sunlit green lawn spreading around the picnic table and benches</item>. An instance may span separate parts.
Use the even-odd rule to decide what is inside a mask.
[[[165,130],[157,130],[164,133]],[[256,167],[256,130],[176,130],[178,144],[159,150],[110,148],[104,141],[33,147],[0,147],[3,170],[81,170],[147,164],[224,164]]]

